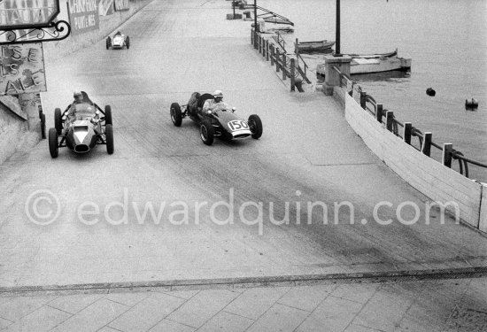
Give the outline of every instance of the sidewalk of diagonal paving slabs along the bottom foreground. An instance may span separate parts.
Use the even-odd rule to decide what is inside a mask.
[[[480,332],[487,278],[4,295],[0,330]]]

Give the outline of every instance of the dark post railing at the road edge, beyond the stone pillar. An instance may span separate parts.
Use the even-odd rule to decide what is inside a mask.
[[[304,92],[301,85],[302,81],[309,80],[305,77],[303,71],[298,66],[298,61],[295,57],[292,57],[282,50],[281,44],[274,46],[273,42],[269,42],[267,38],[263,38],[259,33],[251,29],[251,43],[259,53],[262,54],[267,61],[271,62],[271,66],[275,65],[275,72],[282,72],[282,81],[286,81],[290,78],[290,90]]]

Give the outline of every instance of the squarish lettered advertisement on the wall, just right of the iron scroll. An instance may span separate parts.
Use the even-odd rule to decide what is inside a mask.
[[[99,27],[97,0],[68,0],[71,33],[81,35]]]

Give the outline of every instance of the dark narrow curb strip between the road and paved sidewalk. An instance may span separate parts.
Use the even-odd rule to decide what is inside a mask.
[[[402,270],[342,274],[297,274],[243,278],[184,279],[151,282],[99,282],[86,284],[0,287],[0,294],[33,293],[111,293],[117,291],[242,289],[255,287],[311,286],[319,284],[418,282],[480,278],[487,276],[487,266],[448,269]]]

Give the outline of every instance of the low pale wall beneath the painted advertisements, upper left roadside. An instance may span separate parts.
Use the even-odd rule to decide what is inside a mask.
[[[81,50],[95,42],[99,42],[152,1],[130,1],[130,9],[128,11],[113,12],[112,15],[99,16],[99,28],[97,30],[89,31],[82,35],[70,35],[59,42],[44,42],[44,57],[49,59],[61,58],[76,50]],[[61,12],[58,15],[58,19],[64,19],[69,22],[66,1],[60,1],[59,3]]]

